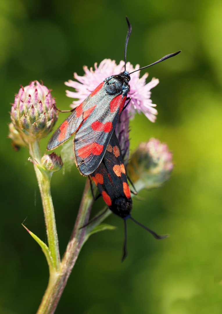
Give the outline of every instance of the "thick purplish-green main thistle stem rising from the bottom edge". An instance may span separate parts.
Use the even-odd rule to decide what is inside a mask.
[[[66,286],[68,277],[85,242],[86,228],[79,228],[88,222],[92,203],[92,193],[90,190],[89,180],[87,180],[82,201],[79,207],[79,213],[71,239],[62,259],[60,270],[56,276],[54,276],[54,280],[49,281],[37,314],[53,314],[56,310],[58,301],[60,300],[62,292]]]

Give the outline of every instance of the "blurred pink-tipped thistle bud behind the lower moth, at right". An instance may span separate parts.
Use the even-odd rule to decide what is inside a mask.
[[[139,189],[161,187],[170,179],[172,170],[172,153],[166,144],[155,138],[141,143],[127,166],[130,179],[140,186]]]

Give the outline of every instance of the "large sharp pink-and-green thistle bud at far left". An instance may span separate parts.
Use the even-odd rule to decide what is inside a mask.
[[[50,90],[38,81],[21,87],[15,95],[11,120],[24,142],[30,143],[46,137],[57,118],[55,100]]]

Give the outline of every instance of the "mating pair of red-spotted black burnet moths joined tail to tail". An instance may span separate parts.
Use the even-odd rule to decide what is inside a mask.
[[[128,218],[148,230],[156,239],[162,239],[165,236],[158,236],[131,217],[131,193],[114,128],[122,110],[130,101],[130,97],[127,97],[130,90],[130,74],[151,67],[180,53],[180,51],[177,51],[146,67],[128,73],[126,71],[126,50],[131,33],[131,25],[128,19],[127,24],[124,72],[106,78],[96,87],[55,131],[47,146],[48,150],[54,149],[75,133],[73,149],[80,173],[84,176],[91,176],[110,210],[124,220],[125,239],[122,261],[127,256],[126,220]]]

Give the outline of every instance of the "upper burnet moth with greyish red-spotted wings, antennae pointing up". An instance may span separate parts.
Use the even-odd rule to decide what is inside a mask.
[[[127,19],[127,18],[126,18]],[[127,19],[128,32],[125,43],[125,70],[106,78],[94,91],[65,119],[54,132],[47,145],[51,150],[74,137],[74,154],[76,166],[84,176],[89,176],[100,165],[109,144],[121,112],[130,101],[127,94],[130,90],[130,75],[136,71],[176,56],[181,51],[171,53],[160,60],[135,70],[126,71],[127,43],[131,33],[131,24]],[[127,101],[127,103],[126,103]]]

